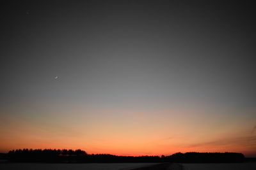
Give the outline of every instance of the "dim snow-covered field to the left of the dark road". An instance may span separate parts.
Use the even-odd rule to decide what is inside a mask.
[[[33,163],[10,163],[0,164],[1,170],[117,170],[131,169],[136,167],[150,166],[157,163],[113,163],[113,164],[33,164]]]

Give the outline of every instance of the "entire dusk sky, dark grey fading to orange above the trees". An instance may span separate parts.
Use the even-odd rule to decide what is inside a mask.
[[[256,157],[248,1],[1,1],[0,152]]]

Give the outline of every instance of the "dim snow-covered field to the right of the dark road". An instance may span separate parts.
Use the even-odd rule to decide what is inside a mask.
[[[182,164],[185,170],[255,170],[256,162],[232,164]]]

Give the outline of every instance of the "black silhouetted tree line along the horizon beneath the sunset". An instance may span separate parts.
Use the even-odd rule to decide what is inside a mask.
[[[19,149],[0,155],[0,159],[11,162],[67,162],[67,163],[109,163],[109,162],[178,162],[217,163],[244,162],[243,153],[174,153],[169,156],[117,156],[110,154],[88,154],[83,150]]]

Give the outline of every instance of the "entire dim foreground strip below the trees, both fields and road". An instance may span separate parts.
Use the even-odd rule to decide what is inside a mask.
[[[255,170],[256,162],[220,164],[109,163],[109,164],[42,164],[0,163],[1,170]]]

